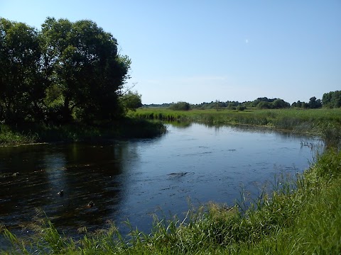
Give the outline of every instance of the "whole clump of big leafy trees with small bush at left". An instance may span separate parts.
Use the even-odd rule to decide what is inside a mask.
[[[47,18],[41,30],[0,18],[0,123],[92,123],[141,106],[124,91],[131,60],[92,21]]]

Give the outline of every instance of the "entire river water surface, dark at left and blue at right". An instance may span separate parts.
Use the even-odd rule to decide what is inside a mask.
[[[160,208],[183,217],[188,199],[231,205],[242,188],[256,197],[275,175],[306,169],[313,154],[302,142],[318,143],[269,130],[194,123],[168,130],[151,140],[0,147],[0,225],[21,234],[19,226],[40,208],[73,236],[79,227],[99,229],[107,220],[123,228],[129,219],[149,232],[151,213],[160,214]]]

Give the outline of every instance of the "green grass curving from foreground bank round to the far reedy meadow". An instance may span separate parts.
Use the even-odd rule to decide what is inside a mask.
[[[129,113],[134,116],[129,121],[149,118],[212,125],[240,123],[320,135],[325,152],[316,152],[310,168],[296,179],[277,179],[273,193],[261,194],[251,206],[243,199],[234,205],[210,203],[190,208],[183,217],[155,217],[150,233],[131,227],[127,236],[121,235],[114,222],[108,222],[97,232],[80,229],[84,234],[80,239],[67,237],[63,229],[56,229],[40,215],[31,225],[35,234],[29,239],[16,237],[3,227],[2,234],[11,248],[0,254],[340,254],[340,113],[340,109],[138,109]]]

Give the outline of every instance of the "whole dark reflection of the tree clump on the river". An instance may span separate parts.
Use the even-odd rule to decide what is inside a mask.
[[[1,224],[25,225],[41,208],[61,229],[99,228],[120,206],[122,162],[131,155],[126,142],[1,148]]]

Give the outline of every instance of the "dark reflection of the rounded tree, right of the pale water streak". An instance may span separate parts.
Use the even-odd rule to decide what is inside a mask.
[[[77,143],[63,147],[60,161],[66,164],[58,171],[59,188],[63,188],[63,197],[55,196],[54,207],[50,214],[56,226],[99,228],[110,219],[121,203],[121,161],[124,158],[126,144],[90,145]],[[49,166],[47,166],[48,168]],[[90,200],[94,206],[87,206]],[[50,216],[50,215],[48,215]]]

